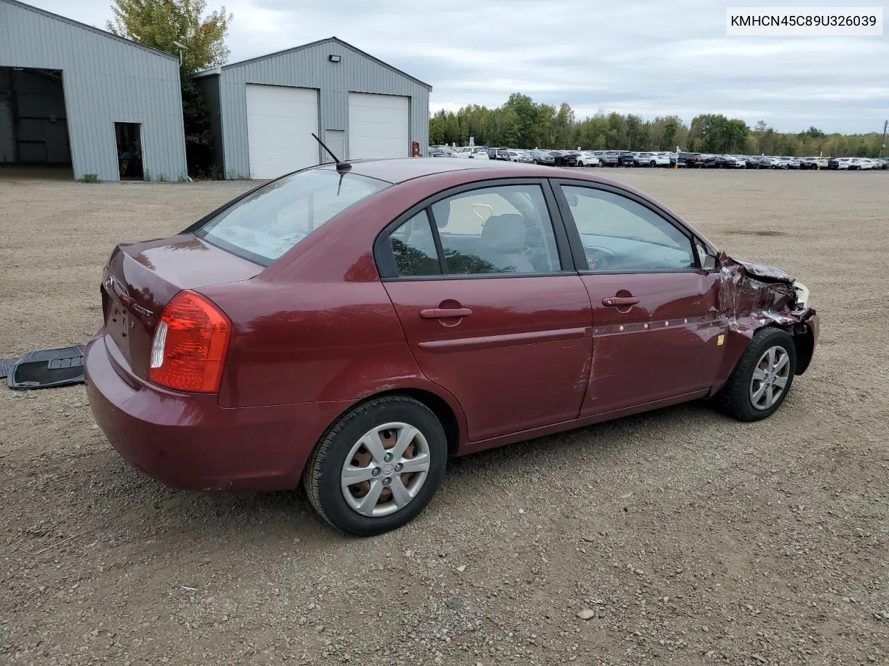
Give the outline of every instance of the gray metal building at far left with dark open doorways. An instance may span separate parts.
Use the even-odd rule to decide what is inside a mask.
[[[179,59],[0,0],[3,163],[70,164],[75,178],[186,178]]]

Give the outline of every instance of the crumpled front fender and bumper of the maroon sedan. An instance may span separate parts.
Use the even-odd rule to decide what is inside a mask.
[[[818,315],[808,305],[809,290],[774,266],[752,264],[718,255],[719,310],[727,329],[724,367],[719,384],[732,374],[734,363],[758,329],[777,326],[793,336],[797,375],[812,361],[818,342]]]

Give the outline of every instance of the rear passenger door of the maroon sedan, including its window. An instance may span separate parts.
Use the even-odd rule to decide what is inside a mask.
[[[546,181],[487,181],[436,195],[377,242],[414,358],[459,400],[471,441],[581,409],[589,296],[555,210]]]

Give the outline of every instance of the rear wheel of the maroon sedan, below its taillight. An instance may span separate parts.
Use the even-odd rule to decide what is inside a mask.
[[[445,477],[447,439],[419,400],[384,396],[324,433],[303,474],[309,502],[333,527],[372,536],[422,511]]]

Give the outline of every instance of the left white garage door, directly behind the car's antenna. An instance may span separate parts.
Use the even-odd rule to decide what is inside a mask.
[[[318,91],[247,84],[251,178],[278,176],[318,163]]]

